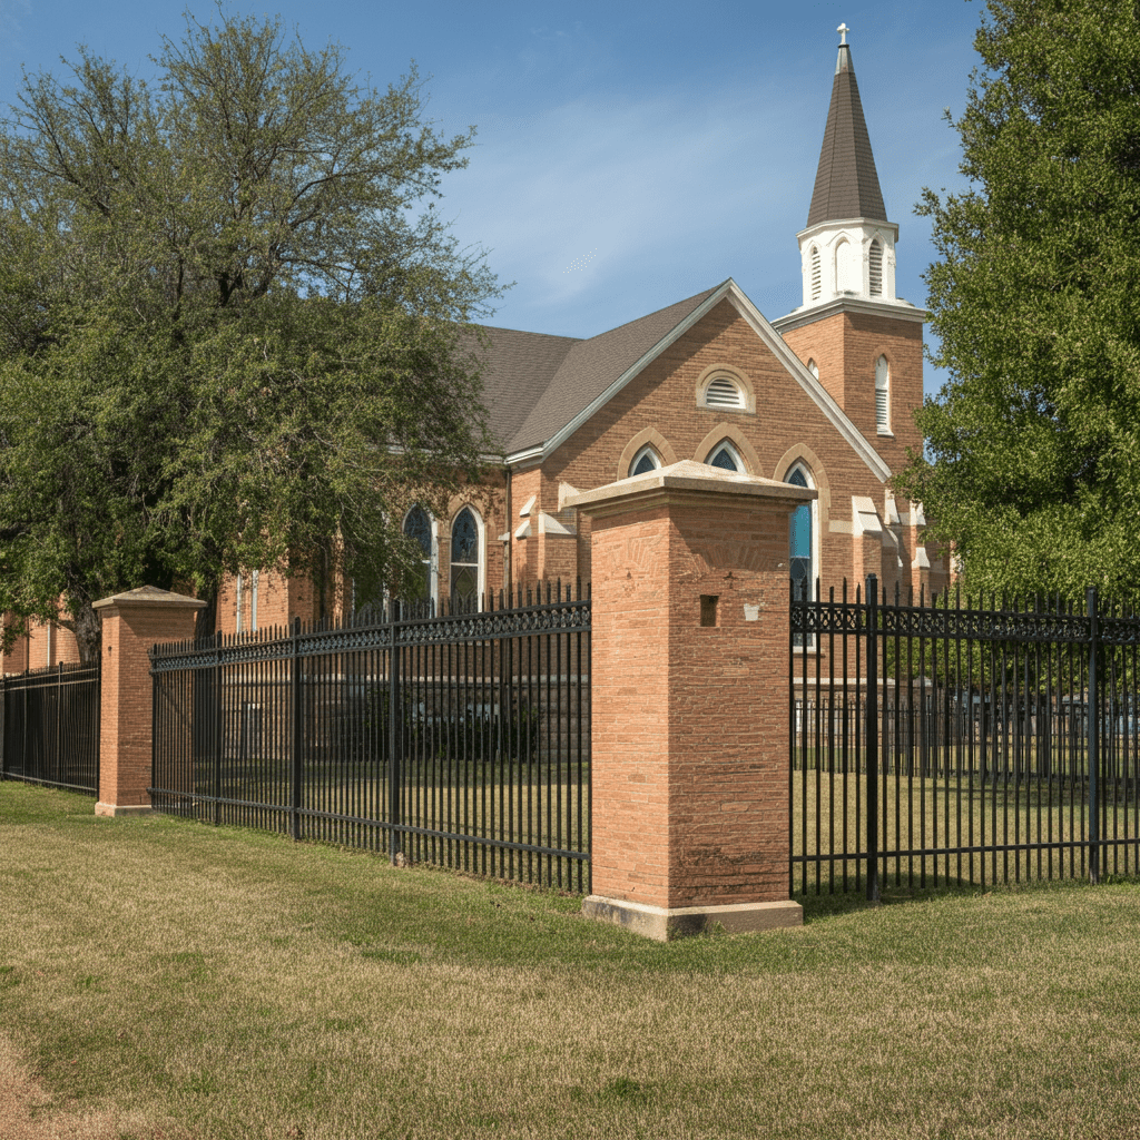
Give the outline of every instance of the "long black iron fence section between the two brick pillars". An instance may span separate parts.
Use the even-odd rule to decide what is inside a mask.
[[[589,883],[589,600],[156,646],[158,811]]]

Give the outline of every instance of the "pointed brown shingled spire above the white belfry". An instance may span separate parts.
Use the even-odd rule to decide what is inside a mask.
[[[841,218],[887,220],[852,52],[846,43],[840,46],[836,62],[831,106],[828,108],[828,125],[823,131],[820,169],[815,174],[807,226]]]

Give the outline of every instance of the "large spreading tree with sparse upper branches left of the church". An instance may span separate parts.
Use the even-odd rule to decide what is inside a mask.
[[[84,660],[144,583],[398,579],[407,506],[491,450],[461,344],[499,290],[433,202],[473,129],[279,19],[188,18],[154,63],[80,48],[0,135],[0,609]]]

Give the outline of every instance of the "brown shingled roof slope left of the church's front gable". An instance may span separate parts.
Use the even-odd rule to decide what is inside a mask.
[[[585,341],[484,328],[483,402],[504,453],[553,439],[717,288]]]

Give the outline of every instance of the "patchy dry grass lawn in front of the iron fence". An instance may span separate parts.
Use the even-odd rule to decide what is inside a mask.
[[[0,784],[5,1140],[1140,1138],[1138,882],[660,945],[92,807]]]

